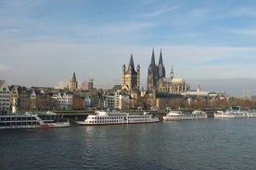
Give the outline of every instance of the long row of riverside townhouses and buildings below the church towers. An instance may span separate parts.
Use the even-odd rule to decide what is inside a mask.
[[[134,97],[137,96],[137,97]],[[142,97],[138,102],[138,96]],[[145,97],[144,97],[145,96]],[[103,91],[69,91],[45,87],[26,88],[19,85],[7,85],[0,80],[0,111],[19,112],[28,110],[77,110],[77,109],[162,109],[170,107],[175,99],[184,99],[187,103],[193,101],[227,100],[228,94],[210,91],[186,91],[180,95],[152,94],[147,91],[133,91],[132,94],[121,85],[111,90]]]

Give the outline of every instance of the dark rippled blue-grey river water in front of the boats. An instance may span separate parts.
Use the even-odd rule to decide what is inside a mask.
[[[0,130],[1,169],[256,169],[256,118]]]

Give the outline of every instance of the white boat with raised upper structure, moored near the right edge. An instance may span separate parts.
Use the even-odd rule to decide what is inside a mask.
[[[246,118],[247,111],[242,111],[240,106],[230,106],[226,111],[217,111],[214,113],[215,118]]]

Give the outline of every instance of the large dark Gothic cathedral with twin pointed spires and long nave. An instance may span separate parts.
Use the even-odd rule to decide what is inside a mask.
[[[147,70],[147,91],[150,93],[181,94],[182,92],[189,91],[189,89],[190,87],[184,79],[173,77],[173,67],[170,78],[165,77],[161,50],[159,65],[157,66],[153,49],[151,62]]]

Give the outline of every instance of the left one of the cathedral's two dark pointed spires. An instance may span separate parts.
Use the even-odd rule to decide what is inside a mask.
[[[154,48],[151,55],[151,63],[147,69],[147,91],[156,90],[157,82],[159,79],[158,67],[155,64],[155,52]]]

